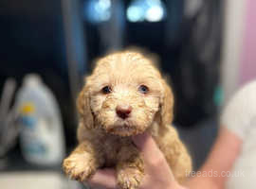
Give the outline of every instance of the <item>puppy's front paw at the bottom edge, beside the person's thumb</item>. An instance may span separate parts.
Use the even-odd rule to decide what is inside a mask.
[[[136,168],[125,168],[119,170],[118,184],[121,189],[137,189],[144,174]]]

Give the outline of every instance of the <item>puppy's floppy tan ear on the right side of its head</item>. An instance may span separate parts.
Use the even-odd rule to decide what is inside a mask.
[[[167,126],[172,123],[174,117],[174,94],[164,79],[162,79],[162,85],[164,93],[160,103],[160,120],[162,126]]]

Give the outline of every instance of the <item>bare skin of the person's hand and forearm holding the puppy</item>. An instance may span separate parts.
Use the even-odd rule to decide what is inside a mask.
[[[184,186],[174,180],[174,175],[163,154],[155,145],[153,138],[147,134],[140,134],[133,138],[134,144],[143,154],[146,177],[139,189],[223,189],[228,177],[192,177]],[[212,169],[218,175],[223,171],[230,171],[233,163],[240,154],[242,140],[221,127],[219,135],[201,172]],[[157,174],[155,174],[157,173]],[[117,189],[116,172],[114,169],[101,169],[88,181],[92,188]]]

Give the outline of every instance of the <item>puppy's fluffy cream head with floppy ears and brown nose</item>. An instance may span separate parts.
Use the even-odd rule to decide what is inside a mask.
[[[173,94],[151,60],[136,52],[119,52],[98,60],[78,98],[87,128],[119,136],[143,132],[154,121],[173,119]]]

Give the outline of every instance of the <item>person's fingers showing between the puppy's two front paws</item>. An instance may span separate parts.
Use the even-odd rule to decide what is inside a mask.
[[[87,181],[93,188],[116,189],[116,172],[114,169],[100,169]]]

